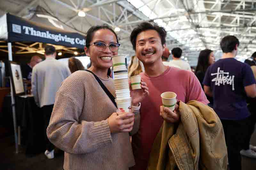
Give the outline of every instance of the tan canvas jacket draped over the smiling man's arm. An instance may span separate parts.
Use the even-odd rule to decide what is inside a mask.
[[[152,147],[148,170],[226,170],[223,127],[211,107],[180,101],[180,123],[164,121]]]

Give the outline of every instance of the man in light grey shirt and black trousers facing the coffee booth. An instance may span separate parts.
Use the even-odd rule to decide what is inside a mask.
[[[46,151],[45,156],[49,159],[54,158],[54,145],[46,136],[46,129],[49,125],[55,96],[60,88],[61,83],[71,73],[68,66],[56,60],[56,49],[53,46],[46,46],[45,60],[36,64],[32,70],[32,93],[36,105],[43,109],[44,114],[44,130]]]

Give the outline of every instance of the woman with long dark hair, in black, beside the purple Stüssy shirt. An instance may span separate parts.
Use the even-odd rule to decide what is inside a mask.
[[[215,57],[213,51],[210,49],[204,49],[200,52],[198,56],[197,66],[196,66],[196,77],[198,78],[202,88],[204,89],[203,80],[208,67],[215,62]],[[213,99],[210,96],[207,96],[207,99],[210,101],[208,104],[210,107],[213,107]]]

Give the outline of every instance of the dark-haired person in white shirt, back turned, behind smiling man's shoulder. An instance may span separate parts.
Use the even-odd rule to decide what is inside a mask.
[[[171,60],[170,63],[180,66],[180,68],[183,70],[191,71],[190,65],[187,62],[180,59],[181,54],[182,54],[182,50],[179,47],[173,48],[172,49],[173,60]]]

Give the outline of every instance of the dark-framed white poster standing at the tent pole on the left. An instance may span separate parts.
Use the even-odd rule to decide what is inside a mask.
[[[20,64],[9,61],[12,88],[15,95],[25,94]]]

